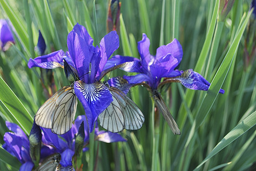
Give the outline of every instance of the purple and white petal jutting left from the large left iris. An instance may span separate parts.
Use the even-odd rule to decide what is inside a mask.
[[[27,66],[29,68],[41,67],[46,69],[63,67],[63,56],[65,56],[65,52],[63,50],[55,51],[48,55],[38,56],[35,59],[30,58]]]

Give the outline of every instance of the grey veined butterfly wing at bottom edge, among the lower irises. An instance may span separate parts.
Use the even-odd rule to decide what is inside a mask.
[[[59,165],[60,161],[61,161],[61,154],[55,153],[55,154],[47,157],[45,160],[43,160],[42,163],[38,166],[38,168],[36,170],[38,170],[38,171],[55,171],[55,169]]]

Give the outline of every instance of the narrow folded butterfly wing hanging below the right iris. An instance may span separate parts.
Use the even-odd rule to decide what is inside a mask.
[[[181,135],[181,131],[179,131],[179,127],[173,119],[173,116],[171,116],[171,113],[167,108],[165,101],[163,101],[161,95],[159,95],[158,92],[153,92],[153,98],[155,101],[155,105],[157,105],[157,108],[161,111],[161,113],[163,113],[163,117],[167,121],[169,127],[171,128],[171,131],[173,131],[175,135]]]

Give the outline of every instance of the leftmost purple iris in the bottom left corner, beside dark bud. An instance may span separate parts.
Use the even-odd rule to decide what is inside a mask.
[[[6,121],[6,127],[12,132],[6,132],[3,136],[5,144],[3,148],[7,150],[10,154],[17,157],[21,162],[21,168],[19,170],[32,170],[34,167],[33,160],[30,157],[30,142],[26,134],[22,129],[14,124]],[[34,128],[34,125],[33,125]],[[33,131],[31,131],[33,132]],[[41,148],[41,158],[45,158],[46,155],[53,153],[51,147],[42,146]]]

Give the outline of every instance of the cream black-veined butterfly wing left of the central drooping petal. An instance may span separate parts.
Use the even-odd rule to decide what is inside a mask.
[[[74,88],[65,86],[50,97],[35,114],[35,123],[62,135],[70,130],[77,111]]]

